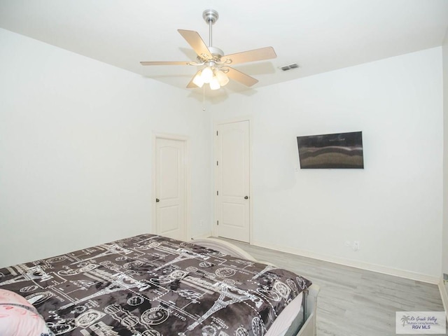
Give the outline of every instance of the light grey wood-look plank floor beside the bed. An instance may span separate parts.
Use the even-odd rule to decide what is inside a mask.
[[[395,311],[444,311],[436,285],[230,242],[321,287],[318,336],[395,336]]]

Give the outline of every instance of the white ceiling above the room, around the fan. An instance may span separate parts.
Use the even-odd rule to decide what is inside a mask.
[[[139,62],[195,60],[177,29],[208,43],[209,8],[219,13],[214,46],[226,54],[272,46],[277,54],[235,65],[260,81],[251,89],[233,82],[221,94],[433,48],[448,27],[448,0],[0,0],[0,27],[185,88],[194,66]],[[279,69],[293,62],[300,68]]]

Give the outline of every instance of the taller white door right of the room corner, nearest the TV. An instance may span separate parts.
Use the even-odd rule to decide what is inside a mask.
[[[218,125],[217,139],[218,236],[249,242],[249,121]]]

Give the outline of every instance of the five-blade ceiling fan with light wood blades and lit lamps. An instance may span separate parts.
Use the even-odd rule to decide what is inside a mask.
[[[197,34],[197,31],[177,30],[186,39],[188,44],[191,45],[191,48],[195,50],[197,62],[140,62],[141,65],[203,66],[193,76],[192,80],[190,80],[190,83],[187,85],[188,88],[202,87],[204,83],[209,83],[211,90],[218,90],[220,87],[229,83],[229,78],[249,87],[258,83],[257,79],[232,68],[230,65],[275,58],[276,53],[274,48],[265,47],[224,55],[223,50],[211,45],[212,26],[218,20],[218,12],[213,9],[204,10],[202,18],[209,25],[209,46],[204,43],[200,34]]]

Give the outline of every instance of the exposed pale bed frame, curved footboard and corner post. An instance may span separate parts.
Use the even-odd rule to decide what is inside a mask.
[[[212,248],[220,251],[224,254],[232,255],[237,258],[243,258],[255,262],[262,262],[268,265],[273,265],[271,262],[262,260],[256,260],[252,255],[244,251],[243,249],[216,238],[203,238],[193,239],[193,244],[204,246],[205,248]],[[316,284],[312,284],[307,290],[304,290],[304,323],[298,333],[295,336],[316,336],[316,308],[317,308],[317,295],[320,288]]]

